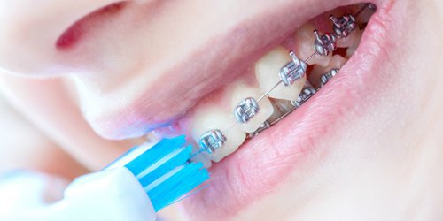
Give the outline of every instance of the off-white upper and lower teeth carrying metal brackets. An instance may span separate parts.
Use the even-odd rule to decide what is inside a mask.
[[[373,12],[367,14],[371,13]],[[361,16],[359,17],[361,18]],[[219,105],[214,104],[200,107],[197,110],[190,124],[191,137],[196,143],[202,143],[200,147],[209,147],[209,150],[207,153],[195,156],[192,159],[193,161],[203,162],[206,167],[209,167],[211,166],[211,160],[219,162],[224,157],[229,156],[238,149],[246,137],[251,138],[267,129],[271,124],[280,120],[282,116],[298,108],[314,95],[317,90],[309,81],[316,87],[321,88],[323,86],[321,77],[323,76],[323,81],[326,82],[327,80],[324,80],[324,78],[328,77],[329,80],[333,76],[333,74],[327,75],[325,73],[333,69],[340,69],[346,64],[348,57],[351,57],[358,47],[363,31],[360,27],[354,28],[354,23],[352,23],[352,27],[341,28],[344,27],[343,24],[346,20],[334,18],[332,18],[336,26],[334,31],[342,37],[338,38],[337,42],[332,41],[333,44],[330,43],[330,45],[334,49],[335,46],[346,49],[346,57],[338,55],[343,54],[343,50],[336,52],[336,55],[332,55],[332,53],[329,53],[328,56],[316,55],[307,62],[308,65],[313,65],[309,74],[305,72],[307,65],[304,62],[301,62],[304,67],[302,71],[304,75],[302,72],[297,72],[296,67],[298,65],[295,64],[298,64],[299,60],[303,61],[310,57],[315,52],[315,45],[317,51],[320,51],[319,47],[322,46],[321,49],[326,48],[331,52],[326,47],[328,39],[320,38],[323,35],[315,36],[313,33],[315,27],[312,24],[307,23],[299,27],[295,39],[286,42],[291,44],[291,48],[294,49],[297,57],[293,53],[290,56],[288,50],[278,46],[261,57],[255,64],[254,71],[257,85],[251,85],[250,81],[245,81],[252,80],[251,76],[248,76],[245,79],[238,80],[233,85],[229,85],[224,90],[222,101],[230,103],[229,110],[232,110],[231,112],[221,110]],[[354,19],[351,20],[354,21]],[[353,29],[352,32],[351,29]],[[345,32],[346,30],[347,32]],[[294,62],[291,65],[292,59]],[[309,81],[307,81],[307,76]],[[274,88],[280,80],[283,83]],[[271,88],[273,90],[268,92]],[[264,93],[268,93],[268,95],[260,98]],[[236,121],[236,124],[234,124],[234,121]],[[221,132],[226,129],[228,129],[227,133],[222,134]],[[204,134],[206,136],[203,137],[207,139],[202,140]],[[222,146],[217,146],[221,143],[223,143]]]

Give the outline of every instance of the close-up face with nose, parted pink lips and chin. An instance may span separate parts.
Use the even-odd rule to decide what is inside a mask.
[[[212,164],[210,186],[183,202],[192,220],[436,220],[443,8],[373,5],[3,0],[0,66],[64,77],[73,87],[27,89],[65,101],[75,88],[82,118],[109,140],[184,133],[198,147],[219,130],[222,148],[196,159]],[[334,31],[330,14],[356,13],[355,23],[346,17],[345,27],[356,25],[350,34]],[[283,72],[287,64],[299,75]],[[8,80],[12,91],[23,89]],[[32,111],[33,99],[18,103]],[[255,134],[263,122],[272,126]],[[101,148],[97,157],[107,157]]]

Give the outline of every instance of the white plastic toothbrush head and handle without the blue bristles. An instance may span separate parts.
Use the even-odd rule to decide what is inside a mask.
[[[16,210],[7,220],[140,220],[156,219],[152,203],[126,168],[90,173],[74,179],[58,202]]]

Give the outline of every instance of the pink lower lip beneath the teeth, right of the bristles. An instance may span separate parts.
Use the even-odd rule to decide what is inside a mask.
[[[333,133],[333,128],[339,126],[338,119],[347,111],[364,111],[354,107],[379,92],[375,85],[383,73],[379,71],[382,65],[377,64],[387,59],[384,49],[392,45],[389,35],[385,35],[391,24],[383,19],[389,14],[389,9],[377,9],[359,49],[327,86],[276,126],[214,164],[209,187],[184,202],[187,212],[203,220],[234,216],[296,171],[315,149],[318,138]]]

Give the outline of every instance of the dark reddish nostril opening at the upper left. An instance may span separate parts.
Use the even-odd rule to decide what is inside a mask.
[[[126,2],[109,4],[79,19],[58,37],[56,48],[58,50],[72,49],[74,45],[82,39],[87,31],[87,27],[92,27],[98,19],[105,19],[106,17],[119,13],[126,4]]]

